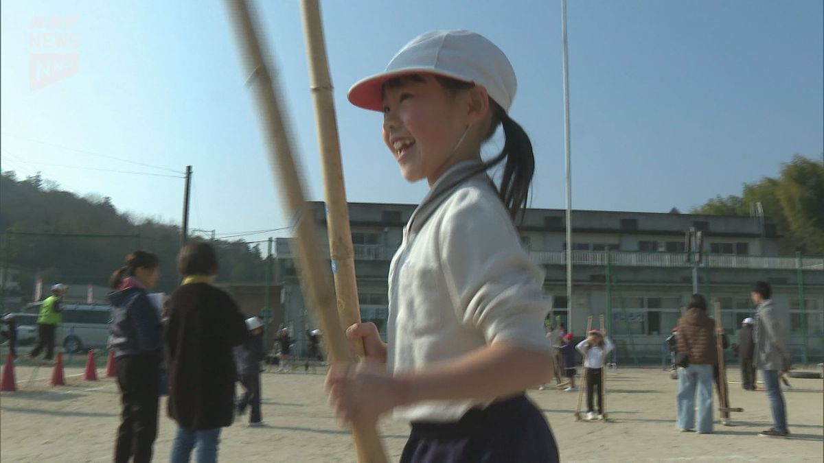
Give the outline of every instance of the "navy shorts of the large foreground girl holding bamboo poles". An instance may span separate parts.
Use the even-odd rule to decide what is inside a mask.
[[[456,423],[412,423],[400,463],[555,463],[544,414],[524,395],[471,409]]]

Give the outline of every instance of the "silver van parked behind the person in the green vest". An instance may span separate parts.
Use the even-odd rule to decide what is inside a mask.
[[[32,302],[23,309],[27,314],[40,313],[41,302]],[[54,344],[63,345],[66,352],[78,353],[87,348],[102,348],[108,344],[111,306],[106,304],[75,304],[63,302],[63,323],[58,325]]]

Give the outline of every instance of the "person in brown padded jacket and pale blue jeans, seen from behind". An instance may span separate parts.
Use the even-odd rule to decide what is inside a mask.
[[[713,368],[718,365],[714,331],[715,320],[707,314],[704,296],[693,294],[678,320],[677,350],[690,359],[690,365],[678,372],[677,426],[681,431],[695,428],[697,405],[698,432],[713,432]]]

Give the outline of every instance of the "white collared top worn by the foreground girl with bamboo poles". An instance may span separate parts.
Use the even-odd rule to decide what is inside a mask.
[[[506,339],[551,351],[544,272],[521,247],[506,208],[480,167],[453,166],[404,230],[389,269],[388,367],[410,372]],[[457,183],[457,185],[456,185]],[[397,419],[452,422],[481,400],[421,402]]]

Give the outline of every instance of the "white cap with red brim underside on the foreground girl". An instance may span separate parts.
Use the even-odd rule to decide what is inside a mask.
[[[431,73],[484,87],[504,111],[515,97],[515,71],[506,55],[470,30],[433,30],[419,35],[386,65],[386,70],[355,83],[349,101],[366,110],[383,110],[386,81],[407,74]]]

